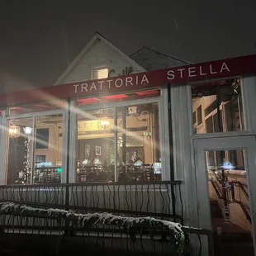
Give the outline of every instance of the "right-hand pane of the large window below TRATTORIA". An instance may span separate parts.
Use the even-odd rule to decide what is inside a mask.
[[[159,107],[157,103],[119,107],[118,180],[161,179]]]

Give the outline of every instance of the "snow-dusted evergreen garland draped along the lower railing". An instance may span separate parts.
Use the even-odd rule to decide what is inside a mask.
[[[157,220],[153,217],[115,216],[107,212],[78,214],[74,211],[59,209],[45,210],[31,206],[22,206],[13,202],[0,203],[0,216],[58,220],[58,223],[60,223],[59,228],[63,230],[74,226],[80,231],[87,231],[99,226],[105,231],[111,231],[113,227],[122,227],[121,231],[130,235],[131,239],[135,239],[136,235],[141,234],[149,234],[151,239],[154,239],[154,235],[168,237],[168,241],[171,241],[173,251],[178,254],[181,254],[185,247],[185,234],[182,225],[167,220]],[[3,222],[2,218],[0,221]],[[7,228],[6,223],[1,222],[0,227],[4,225],[4,228]],[[23,222],[26,223],[26,225],[24,224],[24,228],[29,229],[30,227],[27,225],[27,221]],[[19,228],[21,229],[21,226]]]

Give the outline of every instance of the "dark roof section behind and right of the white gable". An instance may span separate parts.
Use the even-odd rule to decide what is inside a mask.
[[[130,58],[147,70],[168,69],[189,64],[187,61],[164,55],[145,46],[130,55]]]

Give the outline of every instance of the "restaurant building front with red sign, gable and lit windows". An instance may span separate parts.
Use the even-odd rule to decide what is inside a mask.
[[[145,50],[96,34],[55,85],[1,94],[0,183],[180,180],[185,225],[211,230],[215,200],[255,248],[256,55],[187,64]]]

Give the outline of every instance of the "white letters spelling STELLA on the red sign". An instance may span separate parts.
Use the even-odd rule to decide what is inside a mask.
[[[167,72],[167,79],[173,80],[175,78],[195,78],[205,75],[218,74],[223,72],[230,72],[230,68],[225,62],[219,66],[213,66],[212,64],[200,65],[200,66],[190,66],[183,69],[170,69]]]

